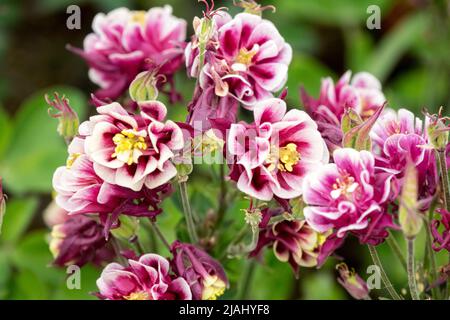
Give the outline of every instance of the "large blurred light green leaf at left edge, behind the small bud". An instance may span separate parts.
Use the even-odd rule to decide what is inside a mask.
[[[8,190],[14,193],[50,192],[55,169],[67,157],[63,139],[56,132],[58,122],[47,114],[44,94],[65,94],[83,119],[86,98],[77,89],[54,87],[40,91],[21,106],[4,158],[0,159],[0,175]]]

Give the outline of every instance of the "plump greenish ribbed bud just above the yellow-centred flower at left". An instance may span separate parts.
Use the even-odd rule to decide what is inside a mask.
[[[153,71],[139,73],[131,82],[129,93],[131,99],[136,102],[153,101],[158,98],[158,81],[164,76]]]

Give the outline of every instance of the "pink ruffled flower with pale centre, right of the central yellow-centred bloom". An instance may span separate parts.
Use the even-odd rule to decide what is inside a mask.
[[[367,151],[337,149],[333,159],[310,172],[303,183],[306,221],[318,232],[332,232],[324,243],[324,256],[349,233],[362,243],[377,245],[388,236],[386,228],[395,227],[387,212],[392,175],[377,172]]]

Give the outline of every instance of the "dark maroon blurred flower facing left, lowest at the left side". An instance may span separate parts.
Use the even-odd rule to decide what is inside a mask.
[[[106,247],[103,226],[84,215],[68,217],[53,226],[50,251],[54,264],[60,267],[76,264],[82,267],[88,262],[101,264],[113,257]]]

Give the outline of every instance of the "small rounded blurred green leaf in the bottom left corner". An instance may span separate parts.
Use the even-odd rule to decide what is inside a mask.
[[[22,270],[13,279],[12,299],[45,300],[49,289],[42,278],[29,270]]]

